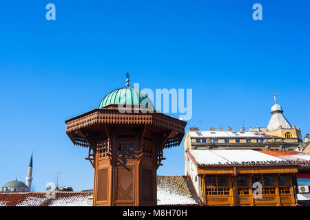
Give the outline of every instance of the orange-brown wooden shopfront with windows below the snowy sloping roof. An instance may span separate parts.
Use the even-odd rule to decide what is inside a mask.
[[[293,173],[293,165],[198,166],[205,206],[294,206]]]

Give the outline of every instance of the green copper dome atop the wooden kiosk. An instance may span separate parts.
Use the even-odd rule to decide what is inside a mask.
[[[145,107],[154,109],[152,100],[142,91],[134,88],[121,88],[111,91],[101,101],[99,108],[106,107],[110,104],[143,104]]]

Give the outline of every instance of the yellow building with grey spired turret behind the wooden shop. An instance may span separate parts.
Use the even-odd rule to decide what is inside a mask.
[[[264,150],[297,150],[302,143],[300,129],[291,126],[280,104],[276,102],[271,107],[271,119],[267,127],[245,128],[233,131],[228,127],[227,131],[219,128],[217,131],[211,127],[209,131],[200,131],[198,127],[192,127],[185,135],[185,151],[193,149],[253,149]]]

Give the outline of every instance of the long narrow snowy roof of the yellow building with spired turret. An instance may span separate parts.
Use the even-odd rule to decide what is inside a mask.
[[[189,137],[207,138],[207,137],[249,137],[249,138],[266,138],[274,137],[272,135],[266,135],[264,132],[258,131],[188,131]]]

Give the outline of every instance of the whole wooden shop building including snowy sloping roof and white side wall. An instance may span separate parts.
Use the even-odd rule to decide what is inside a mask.
[[[294,206],[297,165],[253,150],[189,150],[185,173],[205,206]]]

